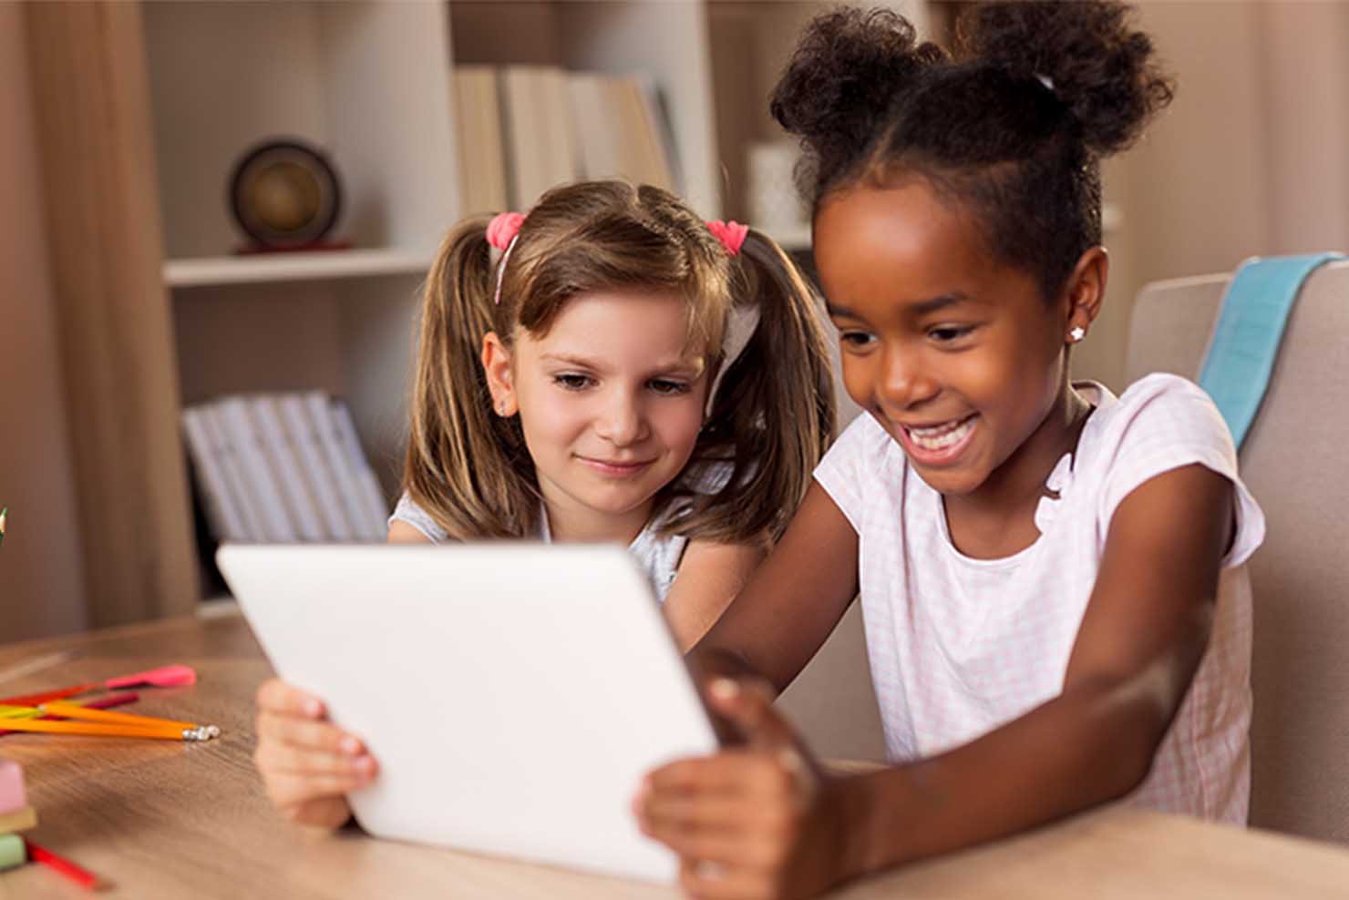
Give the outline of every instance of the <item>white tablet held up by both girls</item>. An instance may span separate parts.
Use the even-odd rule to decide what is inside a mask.
[[[673,880],[631,800],[716,738],[626,550],[225,544],[216,559],[281,678],[378,760],[349,798],[367,831]]]

